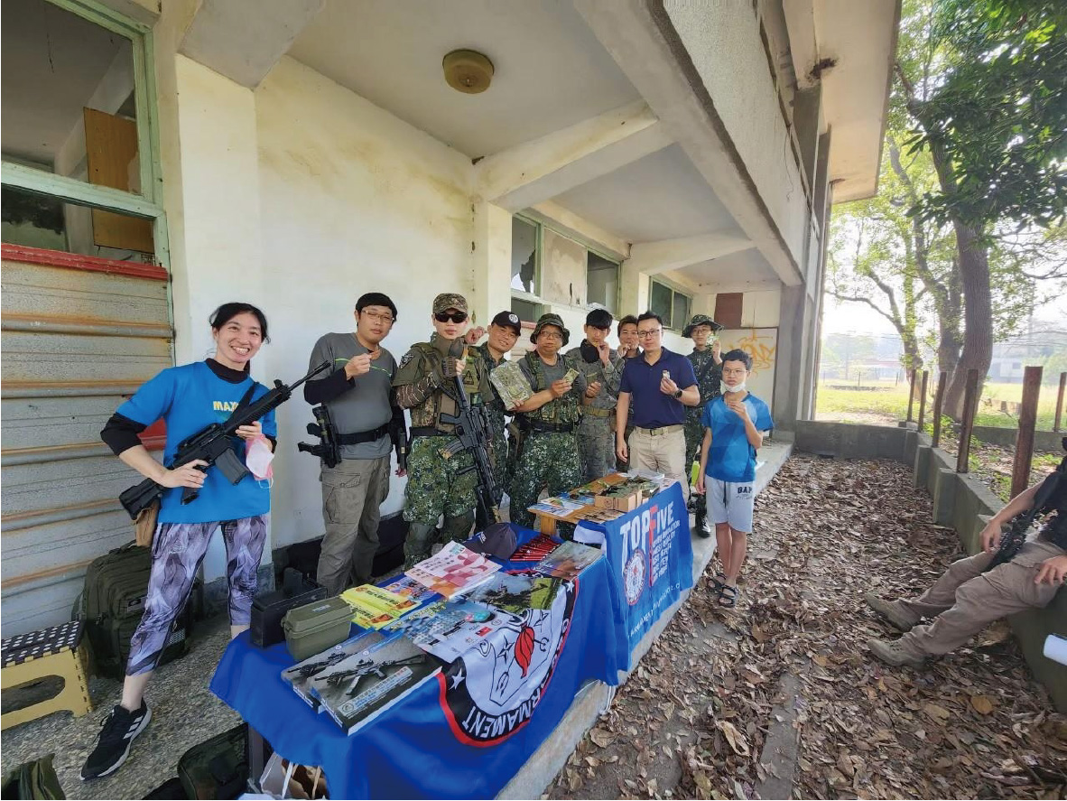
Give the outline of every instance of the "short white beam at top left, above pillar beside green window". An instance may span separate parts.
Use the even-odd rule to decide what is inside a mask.
[[[178,52],[255,89],[325,0],[202,0]]]

